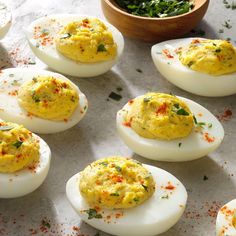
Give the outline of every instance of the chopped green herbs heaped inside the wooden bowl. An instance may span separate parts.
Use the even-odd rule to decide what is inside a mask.
[[[127,12],[145,17],[169,17],[189,12],[193,7],[190,0],[116,0]]]

